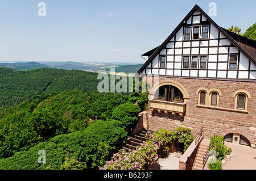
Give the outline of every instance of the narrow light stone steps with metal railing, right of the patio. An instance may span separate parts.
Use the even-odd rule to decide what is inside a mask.
[[[203,170],[204,154],[205,152],[207,152],[209,144],[210,144],[210,140],[203,139],[201,141],[199,145],[199,149],[197,150],[196,159],[193,165],[193,170]],[[207,168],[207,166],[205,168]]]

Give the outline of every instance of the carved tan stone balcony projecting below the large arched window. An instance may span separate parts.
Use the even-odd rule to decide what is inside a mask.
[[[172,113],[173,116],[179,114],[180,117],[184,116],[186,103],[183,102],[167,102],[163,100],[151,99],[149,100],[151,111],[158,111],[159,113]]]

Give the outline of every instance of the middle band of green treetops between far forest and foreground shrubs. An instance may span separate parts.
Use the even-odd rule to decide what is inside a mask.
[[[0,115],[0,158],[10,157],[16,151],[27,150],[59,134],[84,131],[89,119],[109,119],[114,108],[128,98],[119,93],[78,90],[32,96]],[[123,121],[134,123],[137,106],[130,105],[130,110],[125,111],[127,117]]]

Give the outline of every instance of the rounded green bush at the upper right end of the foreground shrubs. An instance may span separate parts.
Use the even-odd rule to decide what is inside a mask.
[[[115,107],[112,117],[115,120],[121,121],[124,127],[128,127],[138,121],[139,111],[140,108],[137,105],[127,102]]]

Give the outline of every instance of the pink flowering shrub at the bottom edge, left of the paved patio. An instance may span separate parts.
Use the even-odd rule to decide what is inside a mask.
[[[114,159],[107,161],[102,170],[140,170],[145,164],[155,163],[158,155],[158,145],[152,141],[146,141],[136,150],[126,151],[119,150],[114,154]]]

